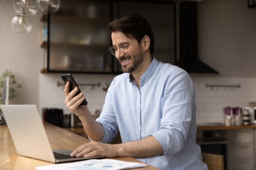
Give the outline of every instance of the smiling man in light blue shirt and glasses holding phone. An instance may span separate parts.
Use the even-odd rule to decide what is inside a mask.
[[[207,170],[196,144],[196,94],[188,74],[153,56],[154,35],[140,15],[121,16],[108,25],[124,74],[113,79],[95,121],[78,89],[65,86],[65,103],[83,123],[90,143],[71,156],[131,156],[162,170]],[[109,144],[118,130],[122,144]]]

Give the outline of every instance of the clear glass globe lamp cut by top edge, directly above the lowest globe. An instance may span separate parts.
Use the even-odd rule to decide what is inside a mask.
[[[13,0],[12,4],[18,15],[33,16],[38,12],[38,0]]]

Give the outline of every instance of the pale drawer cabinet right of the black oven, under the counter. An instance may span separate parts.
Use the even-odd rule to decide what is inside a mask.
[[[255,170],[254,129],[228,130],[227,169]]]

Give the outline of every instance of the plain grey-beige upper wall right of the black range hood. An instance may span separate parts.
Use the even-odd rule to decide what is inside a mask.
[[[256,77],[256,8],[247,0],[198,4],[199,58],[222,76]]]

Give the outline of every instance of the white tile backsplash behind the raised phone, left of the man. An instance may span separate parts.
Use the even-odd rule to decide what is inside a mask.
[[[115,75],[98,75],[98,74],[72,74],[78,84],[97,84],[101,86],[79,86],[84,93],[88,104],[88,108],[102,110],[106,91],[106,83],[110,84]],[[61,79],[61,74],[39,74],[39,108],[61,108],[64,114],[71,113],[66,107],[64,100],[64,86],[57,86],[57,81],[61,84],[64,82]],[[41,111],[41,109],[40,109]]]

